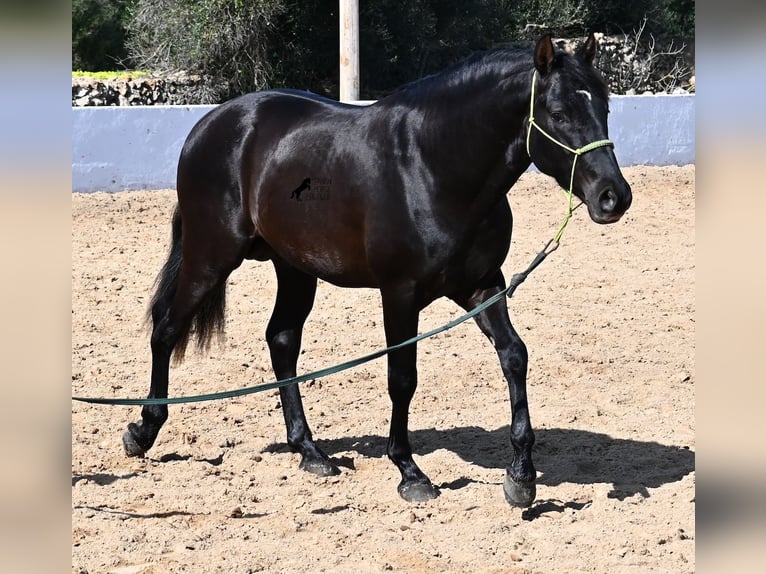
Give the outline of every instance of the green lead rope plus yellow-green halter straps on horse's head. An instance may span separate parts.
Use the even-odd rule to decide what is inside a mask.
[[[168,398],[151,397],[146,399],[110,399],[110,398],[92,398],[92,397],[74,397],[73,396],[72,400],[83,402],[83,403],[102,404],[102,405],[172,405],[172,404],[180,404],[180,403],[198,403],[198,402],[213,401],[218,399],[229,399],[233,397],[241,397],[244,395],[250,395],[254,393],[268,391],[270,389],[278,389],[280,387],[286,387],[287,385],[295,385],[298,383],[303,383],[305,381],[326,377],[328,375],[332,375],[340,371],[345,371],[346,369],[359,366],[363,363],[367,363],[369,361],[382,357],[383,355],[387,355],[388,353],[392,351],[396,351],[398,349],[401,349],[402,347],[406,347],[407,345],[412,345],[414,343],[417,343],[418,341],[422,341],[423,339],[433,337],[434,335],[438,333],[447,331],[448,329],[452,329],[453,327],[456,327],[460,323],[463,323],[467,321],[468,319],[475,317],[476,315],[484,311],[486,308],[497,303],[503,297],[507,296],[510,299],[513,296],[514,291],[516,291],[516,288],[524,282],[527,276],[530,273],[532,273],[532,271],[534,271],[535,268],[538,265],[540,265],[540,263],[542,263],[548,255],[553,253],[558,248],[559,240],[561,239],[561,236],[564,233],[564,229],[566,228],[567,223],[569,222],[569,219],[572,217],[572,212],[575,209],[577,209],[577,207],[582,205],[582,202],[580,202],[579,205],[575,207],[572,206],[572,202],[573,202],[572,185],[574,183],[574,172],[575,172],[575,166],[577,164],[577,158],[580,157],[581,154],[586,153],[592,149],[596,149],[598,147],[602,147],[605,145],[613,145],[612,142],[609,140],[599,140],[591,144],[588,144],[582,148],[572,149],[569,146],[564,145],[563,143],[553,138],[553,136],[546,133],[545,130],[543,130],[534,121],[534,101],[535,101],[535,80],[536,79],[537,79],[537,72],[535,72],[534,76],[532,77],[532,96],[530,98],[530,104],[529,104],[529,127],[527,129],[527,154],[529,154],[529,135],[532,131],[532,126],[535,126],[538,130],[540,130],[540,133],[545,135],[545,137],[547,137],[549,140],[563,147],[564,149],[572,152],[575,155],[574,162],[572,162],[572,175],[569,181],[569,191],[566,191],[566,190],[564,191],[564,193],[569,195],[569,210],[566,214],[566,217],[564,218],[564,222],[561,224],[561,226],[559,227],[558,231],[553,236],[553,238],[550,239],[548,243],[545,244],[545,247],[543,247],[542,251],[540,251],[535,256],[535,258],[532,260],[532,262],[524,271],[520,273],[516,273],[511,277],[511,280],[508,283],[508,287],[506,287],[502,291],[499,291],[498,293],[495,293],[492,297],[484,301],[478,307],[471,309],[465,315],[462,315],[458,317],[457,319],[450,321],[446,325],[442,325],[441,327],[437,327],[436,329],[433,329],[421,335],[417,335],[416,337],[412,337],[396,345],[391,345],[390,347],[386,347],[385,349],[375,351],[368,355],[364,355],[362,357],[352,359],[350,361],[346,361],[345,363],[341,363],[339,365],[327,367],[325,369],[320,369],[318,371],[313,371],[311,373],[306,373],[304,375],[298,375],[296,377],[290,377],[288,379],[282,379],[282,380],[274,381],[270,383],[263,383],[260,385],[255,385],[253,387],[244,387],[241,389],[234,389],[231,391],[223,391],[219,393],[207,393],[202,395],[192,395],[192,396],[186,396],[186,397],[168,397]],[[530,156],[530,159],[531,159],[531,156]]]

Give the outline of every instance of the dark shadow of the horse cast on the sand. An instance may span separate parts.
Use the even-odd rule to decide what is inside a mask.
[[[535,437],[533,457],[538,484],[608,483],[612,485],[608,497],[618,500],[636,494],[648,497],[648,489],[679,481],[695,468],[695,453],[688,447],[619,439],[579,429],[536,429]],[[351,451],[380,457],[385,454],[386,442],[386,437],[365,435],[320,440],[318,444],[337,464],[353,467],[347,456],[333,455]],[[508,425],[495,430],[477,426],[414,430],[410,442],[416,456],[447,449],[484,468],[505,469],[512,458]],[[274,444],[267,450],[283,447]],[[476,481],[464,477],[439,487],[458,489],[471,482]]]

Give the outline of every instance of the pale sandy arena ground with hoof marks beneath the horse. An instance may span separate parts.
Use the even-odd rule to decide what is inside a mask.
[[[416,460],[441,496],[408,504],[384,456],[385,360],[303,386],[341,475],[298,469],[277,391],[170,407],[144,459],[120,437],[140,407],[72,403],[72,572],[693,572],[694,166],[633,167],[619,223],[583,211],[516,292],[530,354],[537,500],[503,498],[508,392],[472,323],[419,346]],[[565,200],[527,174],[510,193],[506,277],[556,230]],[[72,393],[143,397],[143,314],[169,239],[172,191],[72,196]],[[271,381],[269,264],[231,278],[227,339],[171,371],[171,395]],[[459,315],[437,301],[421,331]],[[299,369],[383,346],[373,290],[320,283]]]

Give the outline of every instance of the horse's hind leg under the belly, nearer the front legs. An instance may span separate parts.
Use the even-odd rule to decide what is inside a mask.
[[[277,301],[266,329],[266,341],[277,379],[296,375],[303,324],[314,305],[317,279],[274,260],[277,272]],[[338,467],[316,445],[311,435],[297,384],[280,387],[282,412],[287,426],[287,444],[300,453],[301,468],[319,476],[339,474]]]

